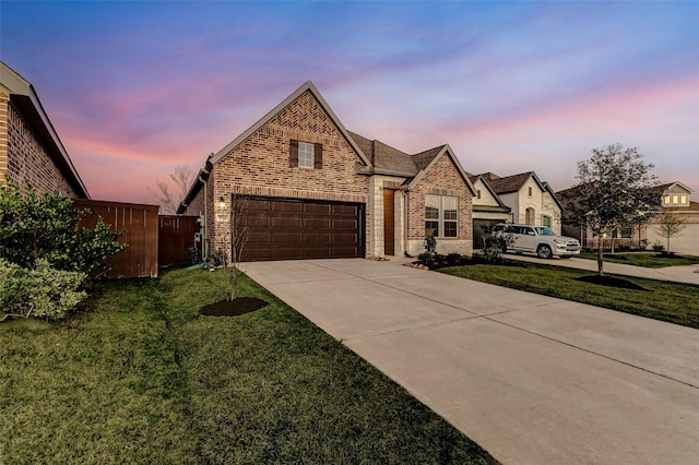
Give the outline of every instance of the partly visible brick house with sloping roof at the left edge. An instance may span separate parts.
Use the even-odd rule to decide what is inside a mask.
[[[38,192],[90,199],[36,91],[0,61],[0,184],[5,175]]]

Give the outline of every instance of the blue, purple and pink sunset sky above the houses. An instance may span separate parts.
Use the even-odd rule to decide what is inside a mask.
[[[699,1],[0,2],[93,199],[155,203],[310,80],[346,129],[463,168],[576,182],[638,147],[699,201]]]

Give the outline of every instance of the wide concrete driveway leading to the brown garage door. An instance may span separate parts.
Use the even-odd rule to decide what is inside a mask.
[[[368,260],[246,272],[505,464],[697,464],[699,331]]]

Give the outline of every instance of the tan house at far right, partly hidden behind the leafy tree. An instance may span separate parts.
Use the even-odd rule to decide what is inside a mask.
[[[677,253],[690,253],[699,254],[699,203],[691,202],[689,196],[694,193],[694,190],[683,184],[682,182],[670,182],[666,184],[656,186],[653,188],[657,192],[657,195],[662,198],[662,206],[676,212],[682,218],[685,219],[686,227],[671,238],[672,251]],[[557,192],[560,201],[566,205],[568,202],[574,201],[577,196],[577,189],[569,188]],[[656,219],[651,219],[645,225],[635,225],[623,228],[619,231],[609,231],[604,235],[604,247],[611,246],[611,240],[614,237],[615,247],[628,246],[631,249],[639,247],[652,246],[659,242],[665,246],[666,239],[661,237],[655,227],[653,226]],[[581,225],[573,225],[564,223],[564,234],[566,236],[574,237],[580,240],[583,248],[596,248],[597,239],[593,238],[592,231],[585,229]]]

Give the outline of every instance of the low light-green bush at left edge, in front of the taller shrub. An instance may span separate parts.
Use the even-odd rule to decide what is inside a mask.
[[[87,297],[79,290],[87,275],[52,267],[37,259],[29,270],[0,259],[0,321],[8,317],[63,319]]]

